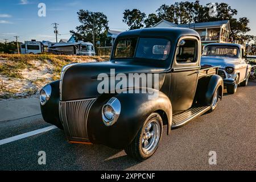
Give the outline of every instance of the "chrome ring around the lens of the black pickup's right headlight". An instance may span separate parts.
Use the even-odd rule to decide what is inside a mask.
[[[110,121],[108,118],[105,117],[105,114],[104,114],[104,107],[105,106],[111,106],[113,108],[113,110],[114,110],[114,119],[112,121]],[[104,124],[106,126],[114,125],[114,123],[117,122],[117,119],[119,118],[119,115],[121,113],[121,103],[120,103],[120,101],[117,98],[115,98],[115,97],[111,98],[108,101],[107,104],[102,106],[101,113],[102,113],[102,120],[103,120],[103,122],[104,122]]]

